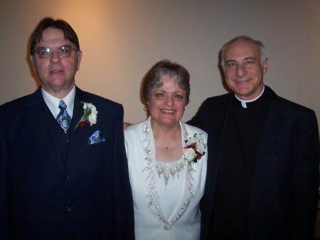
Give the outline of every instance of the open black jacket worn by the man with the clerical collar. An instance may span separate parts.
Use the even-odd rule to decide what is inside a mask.
[[[267,86],[266,90],[271,92],[271,100],[252,182],[247,240],[313,239],[320,157],[316,115],[313,110],[280,98]],[[208,98],[188,122],[208,132],[201,240],[210,240],[207,236],[215,184],[223,161],[221,140],[228,127],[233,96],[228,93]]]

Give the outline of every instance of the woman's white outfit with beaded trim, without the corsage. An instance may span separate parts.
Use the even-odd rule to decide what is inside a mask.
[[[198,240],[207,148],[198,162],[189,162],[183,157],[174,162],[155,160],[150,119],[124,131],[136,240]],[[182,147],[195,133],[201,134],[207,143],[206,132],[183,122],[180,125]]]

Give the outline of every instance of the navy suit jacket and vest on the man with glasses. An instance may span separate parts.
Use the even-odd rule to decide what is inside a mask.
[[[74,129],[80,102],[96,125]],[[66,161],[50,118],[40,88],[0,106],[0,239],[134,239],[122,105],[76,88]]]

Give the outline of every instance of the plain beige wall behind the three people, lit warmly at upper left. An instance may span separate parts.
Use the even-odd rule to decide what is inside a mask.
[[[320,0],[1,0],[0,104],[36,90],[28,41],[44,16],[73,26],[83,51],[77,85],[122,103],[126,121],[146,118],[142,76],[162,58],[191,73],[183,120],[226,93],[218,51],[238,35],[265,43],[265,83],[320,119]]]

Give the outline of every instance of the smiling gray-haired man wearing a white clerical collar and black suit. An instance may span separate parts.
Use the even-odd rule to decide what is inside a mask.
[[[201,239],[312,239],[316,115],[264,85],[267,58],[260,41],[233,38],[221,55],[234,93],[208,98],[190,122],[208,132]]]

